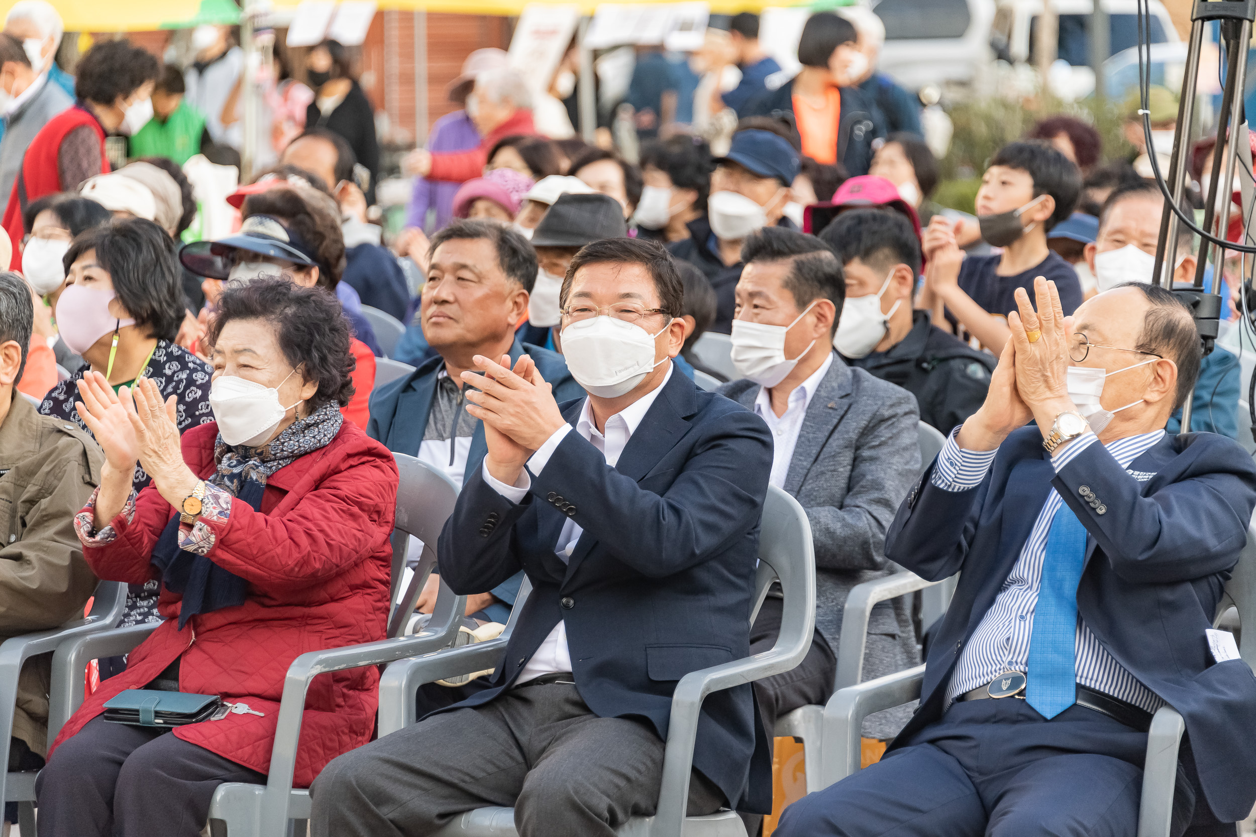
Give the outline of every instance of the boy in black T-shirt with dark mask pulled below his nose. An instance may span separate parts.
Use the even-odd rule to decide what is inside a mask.
[[[1032,291],[1036,276],[1055,282],[1065,315],[1073,314],[1081,304],[1081,284],[1073,266],[1048,248],[1046,235],[1069,217],[1080,189],[1078,167],[1055,148],[1005,146],[977,189],[981,237],[1001,252],[966,259],[956,243],[958,223],[934,217],[924,232],[921,307],[933,310],[936,324],[948,323],[957,336],[996,355],[1011,336],[1012,295],[1017,287]]]

